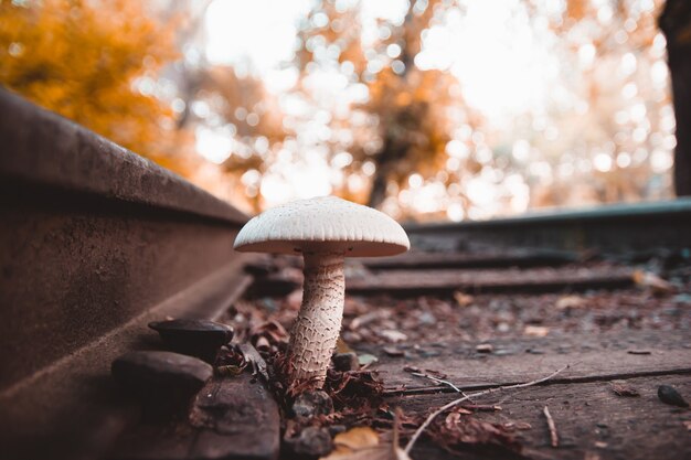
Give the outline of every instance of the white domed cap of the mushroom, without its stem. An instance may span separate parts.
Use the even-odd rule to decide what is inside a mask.
[[[234,247],[243,253],[343,253],[393,256],[411,247],[401,225],[372,207],[336,196],[299,200],[263,212],[245,224]]]

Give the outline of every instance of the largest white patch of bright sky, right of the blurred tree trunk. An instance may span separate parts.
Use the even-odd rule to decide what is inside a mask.
[[[557,76],[551,34],[540,32],[519,0],[471,1],[465,13],[451,11],[446,23],[429,30],[415,63],[448,68],[470,105],[503,122],[542,108]]]

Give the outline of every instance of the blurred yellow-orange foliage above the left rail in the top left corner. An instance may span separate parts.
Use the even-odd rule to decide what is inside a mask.
[[[152,77],[176,58],[173,23],[138,0],[0,2],[0,83],[124,147],[164,154],[170,107]]]

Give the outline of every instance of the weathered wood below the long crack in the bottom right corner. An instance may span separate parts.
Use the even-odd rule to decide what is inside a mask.
[[[657,387],[672,385],[687,397],[691,395],[691,376],[658,376],[631,378],[639,397],[617,396],[609,382],[548,385],[520,392],[478,398],[481,404],[499,404],[496,413],[476,413],[485,421],[496,424],[527,422],[531,428],[517,431],[523,454],[538,459],[682,459],[691,458],[691,437],[684,422],[691,420],[688,409],[662,404]],[[456,396],[415,395],[390,397],[408,415],[426,416]],[[550,446],[550,434],[542,409],[549,406],[560,437],[557,448]],[[440,417],[444,417],[442,415]],[[412,457],[440,460],[450,454],[430,441],[421,440]],[[478,451],[461,452],[460,459],[488,458]],[[493,451],[492,459],[515,458],[508,452]]]

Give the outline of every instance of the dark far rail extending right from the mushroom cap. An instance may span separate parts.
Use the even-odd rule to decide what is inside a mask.
[[[691,248],[691,199],[534,212],[481,222],[410,224],[414,247],[459,250],[477,245],[623,254]]]

